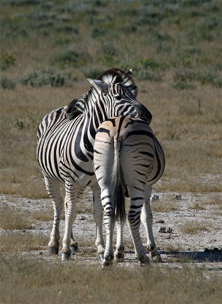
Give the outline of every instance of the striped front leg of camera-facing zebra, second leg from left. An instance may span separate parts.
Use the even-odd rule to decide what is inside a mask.
[[[77,192],[78,190],[73,187],[73,184],[66,184],[66,222],[65,222],[65,233],[63,237],[63,249],[60,251],[60,258],[62,260],[68,259],[72,251],[70,250],[71,244],[71,231],[73,223],[76,219],[76,200],[77,200]]]

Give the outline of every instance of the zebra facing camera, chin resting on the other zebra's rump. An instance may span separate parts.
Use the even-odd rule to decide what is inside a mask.
[[[74,99],[67,108],[62,107],[47,114],[38,128],[37,159],[54,209],[48,244],[50,254],[58,253],[59,221],[63,208],[60,182],[65,184],[67,212],[63,249],[60,251],[62,259],[71,255],[70,246],[76,246],[72,233],[76,199],[78,192],[86,186],[93,191],[96,246],[98,253],[104,251],[101,190],[93,171],[93,146],[99,125],[109,117],[120,115],[139,117],[147,123],[152,119],[151,113],[133,94],[137,88],[131,73],[113,69],[103,73],[100,78],[103,80],[88,79],[93,86],[88,94]]]

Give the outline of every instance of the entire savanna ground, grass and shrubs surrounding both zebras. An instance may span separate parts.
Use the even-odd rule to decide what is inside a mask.
[[[0,5],[1,303],[220,303],[221,1]],[[53,214],[36,133],[112,67],[132,68],[165,151],[152,201],[163,263],[140,268],[126,226],[126,261],[101,271],[90,192],[78,202],[79,253],[48,257]],[[141,236],[145,246],[142,227]]]

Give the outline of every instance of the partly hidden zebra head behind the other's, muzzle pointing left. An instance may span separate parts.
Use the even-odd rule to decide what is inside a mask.
[[[130,90],[134,96],[137,96],[137,86],[134,79],[131,77],[131,70],[124,71],[118,68],[106,70],[97,77],[107,83],[119,84]],[[98,96],[98,91],[95,87],[91,87],[88,92],[74,98],[66,108],[66,117],[70,120],[86,113],[95,103]]]

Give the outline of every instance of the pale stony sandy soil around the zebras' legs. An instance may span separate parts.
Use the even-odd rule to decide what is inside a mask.
[[[156,241],[156,246],[163,263],[161,267],[181,267],[181,257],[184,261],[189,263],[201,263],[202,267],[210,270],[222,270],[222,221],[220,210],[218,206],[213,205],[201,205],[206,202],[210,195],[194,195],[192,193],[182,194],[181,199],[175,199],[175,195],[178,193],[166,192],[157,193],[158,200],[153,200],[151,206],[154,206],[156,202],[162,204],[169,204],[172,206],[172,202],[175,205],[175,210],[167,212],[153,212],[153,233]],[[0,206],[7,204],[8,206],[19,207],[24,213],[30,214],[40,209],[48,209],[52,207],[50,199],[26,199],[15,198],[12,195],[1,195]],[[73,232],[77,240],[79,241],[79,252],[71,257],[73,262],[81,262],[84,264],[98,264],[96,258],[96,247],[84,247],[81,244],[81,240],[92,239],[95,240],[95,227],[93,222],[93,216],[87,212],[92,205],[92,196],[90,190],[85,195],[85,201],[79,204],[84,205],[84,213],[78,213],[77,219],[74,223]],[[193,209],[195,205],[204,206],[203,209]],[[162,222],[162,223],[160,223]],[[163,223],[164,222],[164,223]],[[206,230],[199,231],[196,234],[182,233],[179,229],[180,224],[186,224],[193,222],[194,224],[203,223],[206,226]],[[65,220],[60,222],[60,235],[64,233]],[[171,233],[159,232],[161,227],[172,228]],[[32,233],[44,233],[50,239],[50,232],[52,229],[52,220],[43,222],[35,222],[34,229],[32,230],[19,230],[23,233],[31,231]],[[0,233],[12,233],[0,229]],[[140,228],[141,238],[146,250],[146,232],[141,225]],[[103,228],[103,235],[105,239],[105,226]],[[116,230],[114,238],[116,237]],[[125,261],[120,263],[119,266],[127,265],[128,267],[137,267],[138,263],[135,260],[134,249],[129,244],[132,244],[131,236],[128,230],[127,224],[124,227],[124,240],[126,240],[125,248]],[[114,243],[115,244],[115,243]],[[128,247],[129,246],[129,247]],[[115,246],[113,246],[115,247]],[[206,249],[207,248],[207,249]],[[218,248],[219,250],[217,250]],[[61,248],[60,248],[61,249]],[[23,255],[31,254],[34,256],[41,255],[47,260],[59,259],[59,256],[48,256],[48,247],[45,246],[43,250],[32,250],[30,252],[23,252]],[[192,260],[192,261],[191,261]]]

